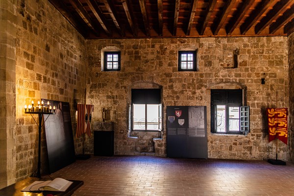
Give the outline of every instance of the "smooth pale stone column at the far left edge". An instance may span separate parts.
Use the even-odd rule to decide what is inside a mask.
[[[0,189],[15,182],[16,6],[0,1]]]

